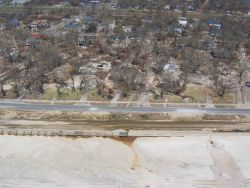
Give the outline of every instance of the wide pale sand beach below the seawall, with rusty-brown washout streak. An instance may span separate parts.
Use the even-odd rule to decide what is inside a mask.
[[[250,134],[0,136],[0,187],[250,187]]]

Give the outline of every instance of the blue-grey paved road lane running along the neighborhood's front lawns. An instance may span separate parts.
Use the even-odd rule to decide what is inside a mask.
[[[0,109],[26,111],[80,111],[80,112],[130,112],[130,113],[196,113],[196,114],[237,114],[250,115],[250,109],[237,108],[197,108],[197,107],[112,107],[112,106],[83,106],[83,105],[50,105],[31,104],[25,102],[0,102]]]

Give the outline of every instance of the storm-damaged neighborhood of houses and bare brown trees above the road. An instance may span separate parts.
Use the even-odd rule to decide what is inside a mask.
[[[48,1],[46,12],[28,8],[46,1],[1,6],[9,3],[23,11],[0,11],[1,74],[25,69],[2,79],[1,98],[105,101],[146,92],[151,101],[248,102],[237,96],[248,95],[249,68],[240,64],[241,50],[250,62],[247,1],[237,10],[233,1]]]

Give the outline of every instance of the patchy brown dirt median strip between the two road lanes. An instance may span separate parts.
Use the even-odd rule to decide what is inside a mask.
[[[17,111],[0,110],[0,120],[40,120],[40,121],[66,121],[86,122],[100,121],[103,125],[111,122],[138,122],[141,123],[169,123],[169,122],[204,122],[204,121],[226,121],[226,122],[249,122],[245,116],[238,115],[205,115],[193,113],[104,113],[104,112],[69,112],[69,111]]]

